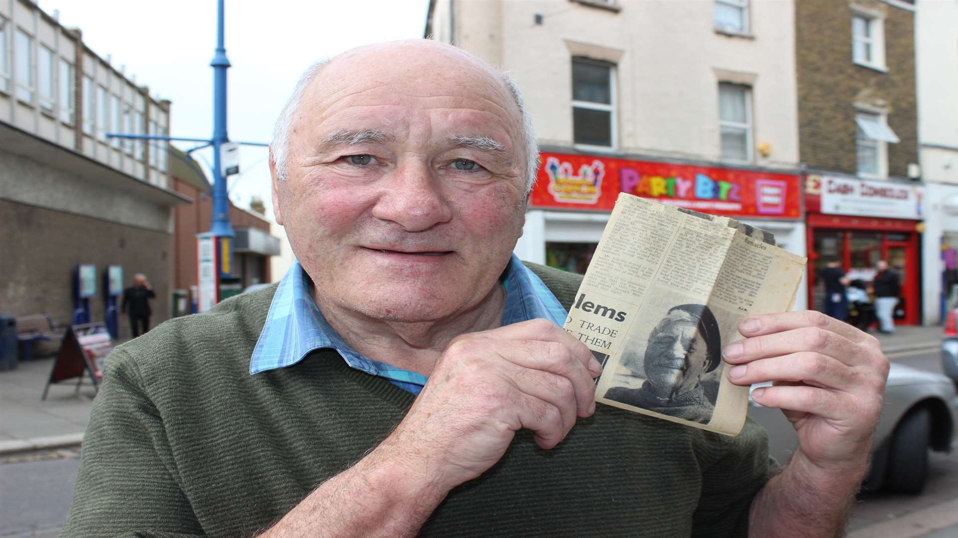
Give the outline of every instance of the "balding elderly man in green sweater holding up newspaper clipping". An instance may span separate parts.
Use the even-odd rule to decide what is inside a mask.
[[[788,381],[755,398],[802,442],[775,476],[754,423],[597,410],[599,365],[556,325],[579,278],[511,258],[535,139],[475,56],[417,40],[311,68],[270,168],[299,263],[114,352],[64,536],[838,532],[876,340],[815,313],[743,322],[734,381]]]

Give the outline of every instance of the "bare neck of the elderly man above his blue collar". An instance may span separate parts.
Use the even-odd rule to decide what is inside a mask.
[[[506,290],[500,282],[479,303],[424,322],[380,320],[311,293],[327,323],[357,353],[390,366],[429,375],[453,338],[502,325]]]

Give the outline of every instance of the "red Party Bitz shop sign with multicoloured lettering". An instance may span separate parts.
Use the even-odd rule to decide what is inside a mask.
[[[797,175],[542,153],[532,205],[611,210],[619,192],[734,216],[798,218]]]

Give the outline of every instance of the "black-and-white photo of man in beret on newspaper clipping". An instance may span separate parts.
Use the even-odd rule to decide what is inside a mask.
[[[702,376],[721,364],[721,335],[708,306],[673,306],[652,329],[645,353],[627,347],[622,363],[644,371],[646,380],[638,389],[613,387],[605,398],[703,424],[712,419],[716,395],[705,391]]]

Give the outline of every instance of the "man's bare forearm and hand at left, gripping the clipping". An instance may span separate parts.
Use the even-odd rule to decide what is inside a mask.
[[[559,444],[595,412],[601,372],[587,347],[545,320],[460,336],[393,433],[262,536],[414,536],[519,429],[542,448]]]

